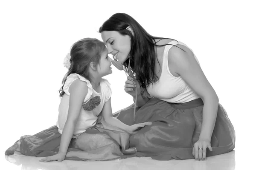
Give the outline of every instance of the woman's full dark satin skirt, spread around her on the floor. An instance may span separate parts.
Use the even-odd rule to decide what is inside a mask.
[[[127,125],[153,122],[130,137],[130,147],[135,147],[138,157],[157,160],[195,159],[192,148],[198,141],[202,127],[203,101],[199,99],[175,104],[157,98],[150,99],[137,108],[133,121],[133,105],[117,112],[116,118]],[[224,108],[219,104],[212,133],[212,151],[206,156],[230,152],[235,148],[235,130]]]

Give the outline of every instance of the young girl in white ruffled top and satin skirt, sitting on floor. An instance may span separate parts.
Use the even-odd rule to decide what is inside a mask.
[[[102,79],[112,73],[111,61],[103,42],[93,38],[76,42],[64,59],[69,70],[60,89],[57,125],[21,137],[5,154],[49,156],[40,160],[46,162],[111,160],[136,153],[128,148],[129,134],[151,122],[128,126],[113,117],[110,84]]]

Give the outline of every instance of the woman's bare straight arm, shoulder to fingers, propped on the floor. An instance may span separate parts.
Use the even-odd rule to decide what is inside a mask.
[[[196,155],[198,154],[198,148],[203,148],[204,153],[202,153],[203,155],[200,155],[199,153],[199,157],[205,159],[206,148],[208,147],[209,150],[212,149],[210,141],[218,111],[218,96],[201,70],[193,52],[183,45],[177,46],[184,51],[175,46],[169,50],[169,69],[175,71],[177,76],[180,75],[180,77],[204,102],[201,133],[199,141],[194,145],[194,149]],[[199,152],[201,151],[202,150],[199,150]],[[198,158],[198,156],[195,156],[195,158]]]

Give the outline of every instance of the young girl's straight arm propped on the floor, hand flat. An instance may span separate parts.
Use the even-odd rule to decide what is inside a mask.
[[[61,144],[58,154],[41,159],[40,161],[62,161],[66,156],[68,146],[70,144],[74,129],[76,127],[76,122],[80,115],[82,103],[84,102],[84,98],[88,92],[87,83],[81,81],[80,79],[76,79],[70,85],[69,92],[69,110],[67,115],[67,121],[65,122],[64,129],[61,134]]]

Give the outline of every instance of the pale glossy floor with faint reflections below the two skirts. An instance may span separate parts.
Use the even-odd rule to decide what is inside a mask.
[[[151,158],[128,158],[114,161],[68,161],[40,162],[41,158],[32,156],[6,156],[6,160],[22,166],[22,170],[234,170],[235,151],[218,156],[208,157],[206,161],[171,160],[156,161]]]

